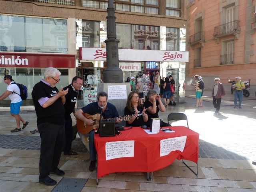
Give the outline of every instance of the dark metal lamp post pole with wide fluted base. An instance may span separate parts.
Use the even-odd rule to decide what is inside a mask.
[[[107,52],[107,68],[103,71],[103,81],[104,83],[122,83],[123,72],[119,68],[119,40],[116,39],[116,17],[114,0],[108,0],[107,12],[107,39],[105,40]]]

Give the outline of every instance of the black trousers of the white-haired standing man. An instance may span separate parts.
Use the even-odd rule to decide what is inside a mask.
[[[41,150],[39,161],[39,179],[50,174],[60,162],[60,155],[64,145],[64,124],[56,125],[44,122],[38,125],[41,137]]]

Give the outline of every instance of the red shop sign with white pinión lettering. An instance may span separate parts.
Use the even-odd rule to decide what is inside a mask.
[[[0,52],[0,68],[75,68],[75,55]]]

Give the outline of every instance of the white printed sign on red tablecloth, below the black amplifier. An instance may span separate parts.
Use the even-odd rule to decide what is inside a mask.
[[[134,157],[134,141],[107,142],[105,150],[106,160],[121,157]]]

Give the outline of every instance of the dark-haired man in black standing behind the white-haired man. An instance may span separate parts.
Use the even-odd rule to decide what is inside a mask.
[[[73,112],[75,116],[75,105],[77,100],[77,94],[80,88],[83,86],[82,77],[75,76],[72,79],[70,85],[64,87],[64,90],[68,89],[68,93],[65,95],[66,103],[65,108],[65,144],[64,144],[64,155],[77,155],[76,152],[71,150],[72,146],[72,118],[70,114]]]

